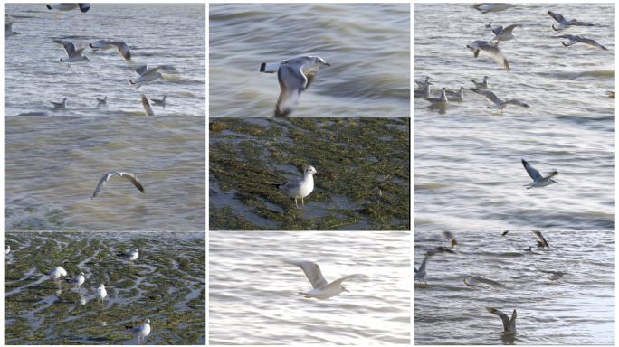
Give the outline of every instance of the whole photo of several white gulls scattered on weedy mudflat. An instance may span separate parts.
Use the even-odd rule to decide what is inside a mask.
[[[205,257],[205,231],[6,231],[5,344],[205,345]]]

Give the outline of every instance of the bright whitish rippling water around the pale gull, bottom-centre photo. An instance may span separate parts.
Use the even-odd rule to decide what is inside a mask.
[[[410,344],[410,232],[209,231],[210,344]],[[344,292],[307,299],[280,259],[311,260]]]

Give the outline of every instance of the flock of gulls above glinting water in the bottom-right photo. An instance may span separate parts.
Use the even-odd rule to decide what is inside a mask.
[[[538,238],[538,247],[550,248],[550,246],[548,245],[548,241],[544,238],[541,231],[531,230],[531,232]],[[505,236],[508,233],[509,233],[509,230],[506,230],[505,232],[503,232],[501,236]],[[453,238],[453,235],[450,231],[443,231],[443,237],[447,239],[448,241],[452,242],[452,248],[457,246],[457,242]],[[530,251],[531,247],[529,246],[529,249],[524,249],[524,250]],[[421,267],[419,268],[414,267],[414,279],[419,279],[420,286],[421,286],[421,279],[424,279],[424,282],[425,282],[425,276],[428,273],[426,270],[428,258],[433,256],[434,254],[443,253],[443,252],[451,253],[451,254],[458,254],[458,252],[452,249],[448,249],[443,246],[440,246],[434,249],[430,249],[429,251],[426,252],[424,256],[424,261],[422,262]],[[563,277],[564,275],[567,275],[567,272],[562,272],[562,271],[546,271],[546,270],[540,270],[539,268],[538,270],[540,272],[550,274],[550,276],[548,276],[547,278],[551,281],[555,281]],[[474,286],[479,286],[479,285],[487,285],[487,286],[499,287],[499,288],[505,287],[505,285],[501,284],[500,282],[497,282],[497,281],[494,281],[488,278],[484,278],[481,276],[463,277],[462,282],[464,283],[465,286],[468,286],[468,287],[474,287]],[[427,284],[427,282],[425,282],[425,284]],[[490,314],[495,314],[500,318],[503,324],[503,333],[506,333],[506,334],[516,333],[516,316],[517,316],[516,310],[514,310],[513,314],[511,315],[511,318],[509,318],[507,314],[500,312],[496,308],[486,307],[486,310],[490,312]]]

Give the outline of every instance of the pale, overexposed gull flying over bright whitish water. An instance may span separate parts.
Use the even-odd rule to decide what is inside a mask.
[[[346,281],[348,278],[369,278],[364,274],[355,274],[347,277],[341,277],[331,283],[328,283],[325,277],[322,277],[319,265],[313,261],[283,261],[287,264],[300,267],[301,271],[305,274],[305,277],[307,277],[308,281],[310,281],[310,285],[313,289],[306,293],[299,292],[300,295],[305,295],[307,298],[313,297],[319,300],[325,300],[342,292],[350,293],[350,291],[344,286],[340,286],[342,282]]]

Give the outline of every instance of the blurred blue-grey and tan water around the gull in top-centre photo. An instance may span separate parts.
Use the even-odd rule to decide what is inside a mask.
[[[291,116],[409,117],[409,4],[209,5],[209,115],[268,117],[279,96],[262,62],[316,55]]]

